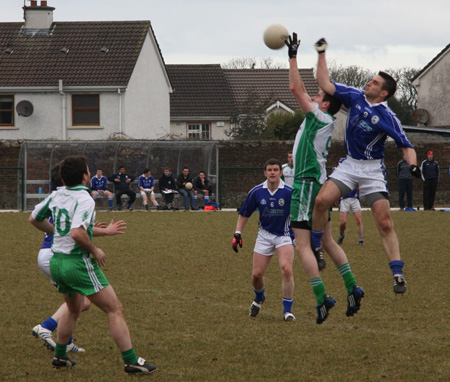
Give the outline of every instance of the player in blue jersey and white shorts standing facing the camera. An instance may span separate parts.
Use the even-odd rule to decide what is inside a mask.
[[[289,221],[291,188],[281,178],[281,163],[269,159],[264,165],[266,181],[252,188],[239,211],[232,247],[242,248],[242,231],[252,213],[259,211],[259,230],[253,252],[252,283],[255,298],[250,306],[250,316],[256,317],[264,303],[264,275],[274,253],[281,270],[283,293],[283,319],[295,321],[292,314],[294,302],[294,233]]]

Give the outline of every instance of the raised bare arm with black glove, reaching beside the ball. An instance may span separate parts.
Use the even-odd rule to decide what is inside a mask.
[[[303,112],[308,113],[314,109],[314,104],[306,92],[305,85],[298,71],[297,50],[300,46],[300,41],[297,40],[297,33],[293,33],[292,37],[289,36],[289,42],[286,42],[286,45],[289,54],[289,89],[297,99]]]

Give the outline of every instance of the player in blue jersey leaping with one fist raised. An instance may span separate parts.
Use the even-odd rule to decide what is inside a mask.
[[[361,197],[365,197],[370,205],[383,249],[389,260],[394,278],[394,293],[405,293],[404,262],[400,258],[386,181],[384,164],[386,138],[391,137],[402,150],[403,158],[410,165],[410,171],[414,176],[420,176],[420,169],[417,167],[417,156],[413,146],[406,138],[400,121],[386,102],[394,95],[397,83],[384,72],[374,76],[365,90],[331,82],[325,58],[326,47],[327,43],[323,38],[316,43],[316,50],[319,53],[317,81],[321,89],[341,100],[348,109],[345,130],[347,157],[333,171],[317,195],[313,212],[312,244],[320,248],[328,207],[341,196],[359,187]]]

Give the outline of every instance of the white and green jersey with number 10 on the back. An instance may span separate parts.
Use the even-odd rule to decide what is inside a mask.
[[[70,230],[83,227],[92,240],[95,222],[95,202],[89,189],[82,185],[53,191],[36,205],[31,213],[36,221],[52,217],[54,232],[52,251],[66,255],[83,255],[88,252],[70,235]]]

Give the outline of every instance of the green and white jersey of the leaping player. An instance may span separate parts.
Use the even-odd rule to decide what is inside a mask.
[[[294,170],[295,180],[302,178],[315,179],[323,184],[327,178],[326,163],[331,145],[331,135],[335,127],[335,118],[319,109],[306,113],[305,120],[295,136]]]

